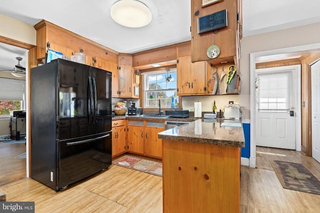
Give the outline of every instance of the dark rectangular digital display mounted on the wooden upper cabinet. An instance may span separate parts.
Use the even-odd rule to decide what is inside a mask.
[[[198,34],[207,32],[210,30],[226,27],[227,25],[228,23],[227,23],[226,9],[223,9],[221,11],[199,17],[198,18]]]

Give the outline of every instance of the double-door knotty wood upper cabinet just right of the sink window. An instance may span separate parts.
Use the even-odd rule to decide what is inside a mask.
[[[190,55],[181,56],[176,67],[178,95],[205,94],[205,61],[191,63]]]

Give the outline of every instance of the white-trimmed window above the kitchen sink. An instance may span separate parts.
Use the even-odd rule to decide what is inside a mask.
[[[170,107],[171,100],[176,95],[176,69],[170,71],[145,72],[143,75],[143,100],[144,108],[158,107],[159,99],[161,107]]]

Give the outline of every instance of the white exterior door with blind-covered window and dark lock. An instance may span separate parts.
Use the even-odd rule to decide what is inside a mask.
[[[296,149],[298,72],[300,65],[256,69],[256,146]]]

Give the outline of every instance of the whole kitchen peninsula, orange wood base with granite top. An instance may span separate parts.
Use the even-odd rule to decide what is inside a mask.
[[[240,212],[243,129],[222,122],[199,119],[158,134],[164,213]]]

